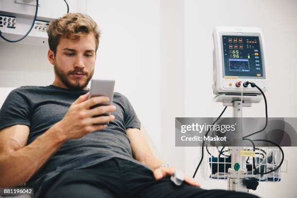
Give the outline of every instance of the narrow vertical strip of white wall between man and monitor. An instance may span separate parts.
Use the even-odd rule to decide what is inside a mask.
[[[175,117],[184,116],[184,3],[161,0],[161,151],[184,170],[184,147],[175,147]]]

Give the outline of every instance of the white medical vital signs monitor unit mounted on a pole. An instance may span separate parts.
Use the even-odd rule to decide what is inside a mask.
[[[214,37],[214,94],[260,94],[267,91],[263,33],[259,28],[216,27]],[[242,90],[243,89],[243,90]]]

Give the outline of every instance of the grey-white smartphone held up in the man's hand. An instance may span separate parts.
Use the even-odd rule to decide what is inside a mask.
[[[90,107],[90,109],[102,106],[102,105],[112,105],[113,104],[113,99],[114,99],[114,88],[115,88],[115,81],[113,80],[96,80],[92,79],[91,80],[91,88],[90,88],[90,94],[89,94],[89,99],[95,96],[106,96],[109,98],[109,102],[105,103],[99,103],[95,104]],[[111,112],[107,114],[101,114],[101,115],[94,115],[93,117],[99,117],[102,115],[110,115]],[[106,125],[109,124],[109,122],[106,123],[100,123],[99,125]],[[98,124],[94,124],[98,125]]]

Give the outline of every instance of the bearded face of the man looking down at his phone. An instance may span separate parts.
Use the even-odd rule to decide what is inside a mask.
[[[49,50],[48,58],[54,66],[53,85],[71,90],[87,89],[96,61],[96,41],[93,33],[73,39],[61,37],[56,53]]]

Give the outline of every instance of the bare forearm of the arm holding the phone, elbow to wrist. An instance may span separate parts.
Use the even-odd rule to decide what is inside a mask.
[[[0,156],[0,187],[14,187],[27,182],[65,140],[59,129],[51,127],[30,145]]]

